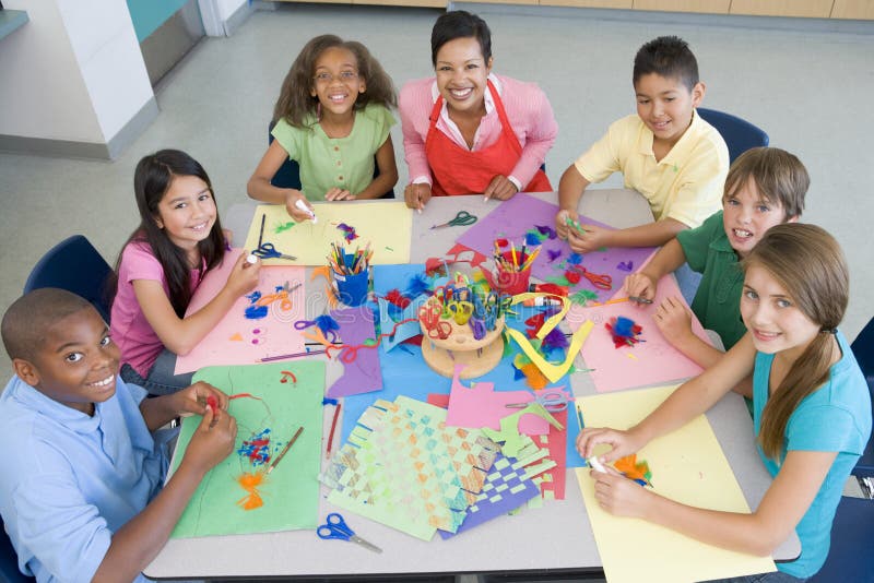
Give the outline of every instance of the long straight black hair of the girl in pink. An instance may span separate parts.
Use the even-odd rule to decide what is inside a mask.
[[[157,226],[155,218],[158,216],[158,203],[164,199],[176,176],[196,176],[203,180],[210,189],[210,193],[215,199],[212,191],[212,182],[206,175],[206,170],[198,160],[179,150],[162,150],[144,156],[133,172],[133,193],[137,199],[137,209],[140,211],[140,226],[131,234],[121,253],[118,254],[116,262],[116,273],[121,264],[121,254],[128,243],[144,242],[152,248],[152,253],[157,258],[164,269],[164,276],[169,288],[169,300],[176,316],[185,317],[188,304],[191,301],[191,265],[185,251],[177,247],[164,229]],[[209,271],[222,262],[225,250],[225,236],[222,231],[222,224],[218,214],[215,215],[215,223],[210,230],[210,236],[198,242],[198,250],[202,262],[205,261]],[[202,269],[197,265],[198,269]],[[201,273],[202,277],[203,273]],[[113,297],[118,290],[118,282],[113,289]]]

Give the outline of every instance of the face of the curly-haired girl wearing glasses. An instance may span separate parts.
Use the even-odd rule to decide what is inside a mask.
[[[351,50],[331,47],[321,51],[314,67],[310,95],[318,97],[322,110],[347,115],[365,91],[367,84],[358,75],[358,61]]]

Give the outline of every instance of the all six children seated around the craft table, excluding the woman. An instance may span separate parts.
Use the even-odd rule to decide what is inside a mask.
[[[491,53],[487,60],[491,68]],[[871,433],[869,390],[837,329],[849,294],[846,261],[826,231],[796,224],[810,178],[795,156],[759,147],[729,168],[724,141],[696,112],[705,85],[685,43],[646,44],[633,84],[637,115],[611,124],[562,176],[556,229],[582,253],[661,246],[625,281],[624,290],[640,302],[651,302],[659,279],[684,263],[702,273],[692,311],[728,352],[695,336],[685,304],[665,299],[657,325],[705,372],[634,428],[587,428],[577,447],[590,456],[609,443],[613,449],[601,461],[611,462],[728,391],[744,394],[761,460],[775,477],[752,514],[685,507],[612,472],[593,471],[597,498],[612,513],[759,555],[794,528],[801,557],[781,563],[775,576],[808,578],[828,554],[843,483]],[[389,133],[397,103],[391,79],[363,45],[314,38],[282,84],[275,141],[248,182],[249,194],[306,221],[309,201],[390,191],[398,180]],[[290,156],[300,166],[299,190],[270,183]],[[647,198],[654,223],[618,230],[579,224],[580,197],[614,171]],[[226,395],[191,385],[190,376],[173,369],[176,355],[255,288],[260,261],[240,257],[218,295],[187,314],[199,283],[229,246],[209,176],[191,156],[165,150],[140,160],[134,194],[141,223],[116,265],[110,328],[90,304],[58,289],[25,295],[2,321],[15,376],[0,395],[0,513],[22,572],[39,581],[140,576],[200,479],[234,444]],[[421,210],[417,197],[408,204]],[[217,408],[205,405],[210,397]],[[167,456],[154,431],[185,414],[203,420],[162,488]]]

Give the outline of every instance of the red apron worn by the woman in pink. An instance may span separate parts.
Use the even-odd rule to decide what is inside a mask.
[[[504,111],[504,102],[492,82],[488,90],[495,99],[501,131],[497,141],[476,152],[458,145],[451,138],[437,129],[437,120],[444,106],[444,96],[438,95],[434,109],[430,111],[430,127],[425,138],[425,154],[428,157],[434,185],[432,193],[435,197],[454,197],[457,194],[480,194],[498,175],[509,177],[519,157],[522,155],[522,145],[512,126]],[[553,187],[543,170],[538,169],[531,182],[522,192],[552,192]]]

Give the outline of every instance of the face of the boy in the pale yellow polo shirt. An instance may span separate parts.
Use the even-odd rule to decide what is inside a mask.
[[[692,123],[692,110],[698,107],[704,91],[702,83],[689,91],[678,79],[658,73],[642,75],[635,83],[637,115],[657,141],[673,146]]]

